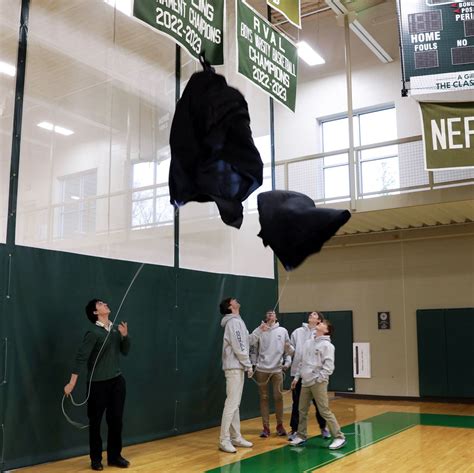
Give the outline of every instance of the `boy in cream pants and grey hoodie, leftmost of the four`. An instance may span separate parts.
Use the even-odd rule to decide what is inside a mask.
[[[231,297],[224,299],[219,309],[223,315],[222,369],[227,393],[222,413],[219,449],[226,453],[235,453],[237,451],[235,447],[253,446],[252,442],[245,440],[240,433],[239,411],[244,388],[244,372],[247,372],[249,378],[253,375],[249,359],[249,332],[240,317],[240,304],[237,299]]]

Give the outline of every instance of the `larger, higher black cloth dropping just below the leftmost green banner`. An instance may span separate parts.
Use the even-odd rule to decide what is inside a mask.
[[[207,64],[191,76],[171,126],[170,201],[214,201],[227,225],[242,225],[242,202],[262,185],[263,163],[247,102]]]

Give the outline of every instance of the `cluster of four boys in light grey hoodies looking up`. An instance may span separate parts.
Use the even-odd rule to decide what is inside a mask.
[[[303,445],[307,439],[308,411],[313,402],[316,418],[325,439],[332,437],[331,450],[342,448],[346,439],[336,417],[329,409],[327,387],[334,371],[332,325],[319,312],[308,314],[308,322],[297,328],[291,338],[278,323],[274,311],[251,334],[240,316],[235,298],[220,303],[221,326],[224,328],[222,369],[226,378],[226,400],[222,413],[219,449],[235,453],[236,447],[253,446],[240,432],[239,407],[245,372],[258,385],[263,430],[260,437],[270,436],[268,386],[271,383],[275,403],[276,434],[287,436],[290,445]],[[283,372],[290,369],[293,407],[291,432],[283,426]],[[255,370],[255,371],[254,371]]]

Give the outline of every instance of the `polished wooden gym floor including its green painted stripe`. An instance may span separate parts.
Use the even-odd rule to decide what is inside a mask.
[[[285,405],[288,405],[288,399]],[[347,445],[329,451],[309,422],[311,438],[305,447],[289,447],[275,434],[260,439],[260,418],[242,422],[242,433],[254,443],[236,454],[217,449],[219,428],[126,447],[130,473],[351,473],[456,472],[474,473],[474,404],[367,401],[339,398],[331,401]],[[285,409],[288,411],[288,409]],[[272,416],[273,417],[273,416]],[[272,418],[273,420],[273,418]],[[286,426],[289,413],[285,413]],[[272,426],[275,427],[274,425]],[[104,471],[119,471],[106,466]],[[21,473],[89,472],[89,457],[16,470]]]

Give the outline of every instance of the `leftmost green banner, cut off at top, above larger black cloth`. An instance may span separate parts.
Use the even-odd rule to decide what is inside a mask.
[[[224,0],[134,0],[133,16],[156,28],[195,58],[224,64]]]

